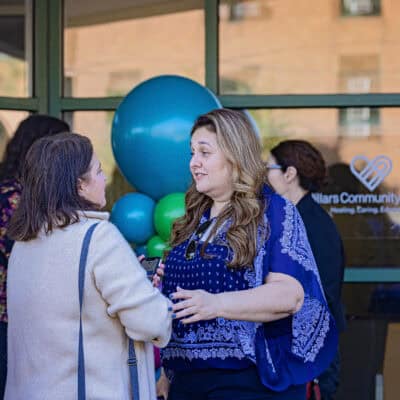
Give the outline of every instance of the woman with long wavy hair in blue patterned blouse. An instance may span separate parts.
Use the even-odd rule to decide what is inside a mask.
[[[267,189],[243,113],[200,116],[191,151],[163,282],[174,302],[169,400],[303,400],[337,336],[301,219]]]

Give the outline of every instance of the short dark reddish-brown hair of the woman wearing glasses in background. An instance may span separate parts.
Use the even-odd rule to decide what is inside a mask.
[[[305,140],[285,140],[271,149],[276,162],[286,171],[295,167],[300,186],[318,191],[326,181],[326,165],[321,153]]]

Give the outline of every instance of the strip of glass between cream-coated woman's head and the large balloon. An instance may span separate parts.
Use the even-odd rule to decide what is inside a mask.
[[[64,119],[70,124],[72,131],[89,137],[93,143],[94,151],[107,177],[107,210],[111,210],[121,196],[135,190],[121,175],[112,153],[113,116],[114,113],[109,111],[79,111],[64,114]]]

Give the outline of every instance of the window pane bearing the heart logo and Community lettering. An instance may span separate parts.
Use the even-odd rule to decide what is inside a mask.
[[[326,160],[316,193],[344,241],[348,267],[400,267],[400,109],[373,109],[365,130],[346,128],[344,110],[253,110],[264,147],[285,139],[314,144]],[[348,110],[346,110],[348,111]]]

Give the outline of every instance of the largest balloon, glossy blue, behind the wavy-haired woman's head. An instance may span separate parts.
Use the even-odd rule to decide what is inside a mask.
[[[115,112],[114,157],[126,179],[153,199],[185,192],[191,176],[190,129],[218,98],[180,76],[164,75],[136,86]]]

